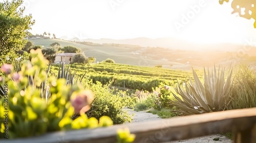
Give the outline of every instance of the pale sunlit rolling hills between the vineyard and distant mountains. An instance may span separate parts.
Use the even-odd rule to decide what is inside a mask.
[[[163,65],[165,68],[185,69],[201,68],[203,66],[213,66],[214,64],[230,65],[233,59],[237,62],[246,61],[252,65],[256,65],[255,57],[256,49],[252,48],[246,51],[242,57],[235,52],[227,52],[224,50],[177,50],[162,47],[146,47],[136,44],[127,43],[108,43],[105,41],[99,43],[94,42],[72,42],[61,39],[29,39],[34,45],[43,45],[48,47],[53,42],[58,42],[63,46],[75,46],[81,49],[87,57],[95,57],[96,61],[102,61],[107,58],[115,60],[117,63],[140,65],[140,66],[156,66]],[[189,45],[188,45],[189,46]],[[218,45],[215,45],[218,46]],[[225,46],[225,44],[224,44]],[[226,45],[228,47],[228,45]],[[191,46],[193,47],[193,46]],[[233,46],[236,47],[236,46]],[[238,48],[238,47],[237,47]],[[254,54],[252,54],[254,53]]]

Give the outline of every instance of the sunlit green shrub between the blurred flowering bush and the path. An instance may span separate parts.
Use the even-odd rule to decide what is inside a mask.
[[[95,93],[95,100],[92,103],[91,109],[87,112],[88,116],[96,117],[109,116],[114,124],[122,124],[131,122],[132,118],[123,110],[126,106],[123,103],[123,98],[114,94],[114,89],[110,89],[109,85],[102,85],[100,82],[93,84],[92,82],[83,82],[84,86]]]

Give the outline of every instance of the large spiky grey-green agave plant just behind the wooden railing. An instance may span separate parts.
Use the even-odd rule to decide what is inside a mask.
[[[214,111],[228,110],[231,108],[232,91],[232,69],[229,70],[225,79],[225,68],[214,70],[208,69],[208,75],[204,68],[204,82],[202,83],[193,69],[193,83],[189,78],[189,83],[183,87],[178,85],[173,96],[177,99],[172,104],[178,108],[178,113],[184,115],[200,114]]]

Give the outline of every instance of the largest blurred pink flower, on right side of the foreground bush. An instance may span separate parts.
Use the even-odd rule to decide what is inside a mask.
[[[76,114],[82,114],[90,109],[94,94],[91,90],[83,90],[76,94],[76,97],[71,100],[71,104],[75,109]]]

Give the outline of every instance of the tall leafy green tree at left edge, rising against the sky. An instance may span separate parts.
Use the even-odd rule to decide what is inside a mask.
[[[34,24],[31,14],[23,15],[25,7],[20,7],[23,0],[0,3],[0,65],[14,63],[27,40],[24,39]],[[7,58],[8,57],[8,58]]]

